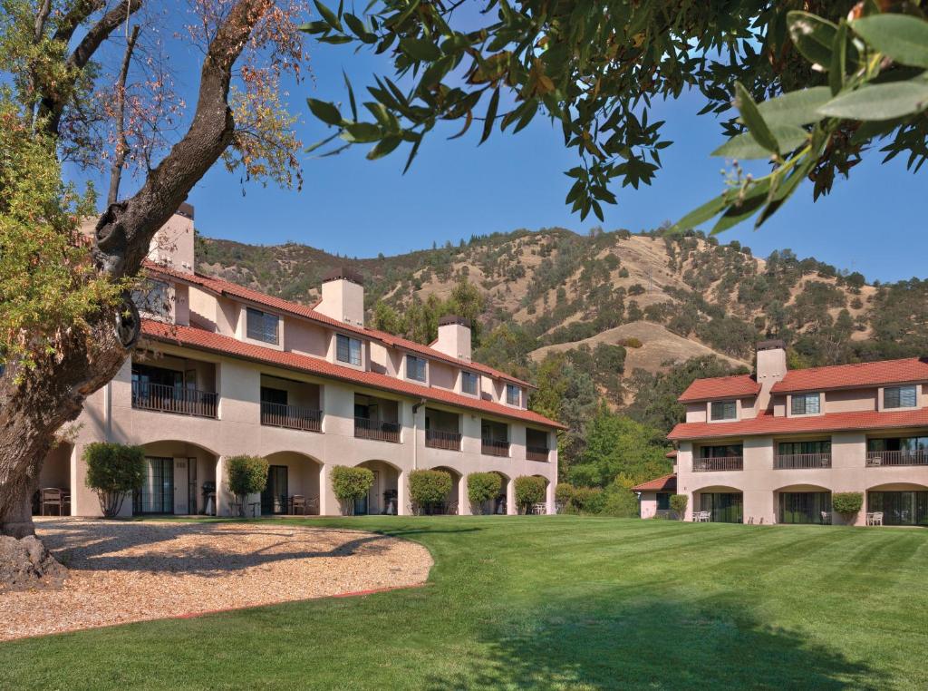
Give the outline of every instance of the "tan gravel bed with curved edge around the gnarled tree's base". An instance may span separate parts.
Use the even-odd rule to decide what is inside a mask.
[[[262,523],[37,519],[71,577],[0,593],[0,641],[421,583],[432,557],[360,530]]]

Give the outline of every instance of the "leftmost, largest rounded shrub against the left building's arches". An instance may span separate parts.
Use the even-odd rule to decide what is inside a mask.
[[[119,515],[125,495],[145,482],[145,451],[141,447],[96,441],[84,447],[84,484],[97,493],[107,518]]]

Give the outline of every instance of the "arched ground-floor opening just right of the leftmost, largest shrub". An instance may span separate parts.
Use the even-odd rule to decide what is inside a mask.
[[[133,515],[215,515],[219,455],[187,441],[143,444],[145,479]]]

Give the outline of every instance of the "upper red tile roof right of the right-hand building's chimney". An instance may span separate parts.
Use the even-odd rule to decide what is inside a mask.
[[[879,362],[856,362],[851,365],[813,367],[786,372],[773,385],[775,394],[798,391],[824,391],[835,388],[860,388],[890,384],[928,382],[928,359],[906,358]]]

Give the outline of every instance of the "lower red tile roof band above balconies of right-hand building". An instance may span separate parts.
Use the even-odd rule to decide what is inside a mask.
[[[851,432],[924,426],[928,426],[928,408],[915,411],[830,412],[808,417],[774,416],[770,412],[765,412],[751,420],[739,420],[733,423],[677,424],[667,438],[758,437],[806,432]]]

